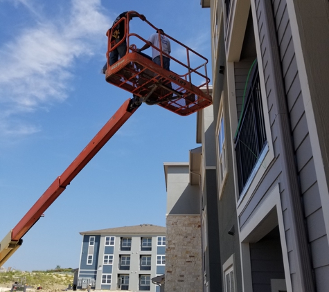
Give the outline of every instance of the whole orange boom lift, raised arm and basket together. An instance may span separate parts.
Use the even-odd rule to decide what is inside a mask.
[[[130,13],[138,15],[141,19],[141,15],[134,11],[127,12],[127,19],[129,19]],[[122,104],[71,165],[64,170],[62,175],[53,181],[46,192],[28,210],[26,215],[4,237],[0,243],[0,266],[3,266],[9,257],[15,253],[17,248],[21,246],[23,242],[22,237],[24,237],[26,232],[30,230],[40,217],[44,216],[43,213],[51,206],[53,201],[62,194],[66,186],[71,183],[83,167],[91,161],[91,158],[97,154],[116,131],[132,116],[141,103],[145,102],[149,105],[158,104],[180,116],[188,116],[212,104],[211,96],[208,93],[208,83],[210,80],[206,73],[206,64],[208,63],[206,58],[169,35],[166,35],[172,44],[186,51],[186,60],[183,62],[159,50],[161,64],[163,56],[170,57],[171,66],[176,65],[175,67],[179,73],[167,71],[152,62],[148,57],[145,57],[145,55],[137,53],[136,45],[132,44],[133,39],[139,39],[144,44],[147,41],[138,34],[130,32],[129,21],[122,18],[115,26],[118,24],[124,24],[125,26],[125,37],[122,42],[126,39],[127,54],[112,66],[109,66],[109,62],[107,61],[105,79],[110,84],[130,91],[134,94],[134,98],[128,99]],[[159,29],[150,24],[149,21],[145,20],[145,24],[159,33]],[[121,44],[112,44],[112,31],[114,31],[113,28],[107,31],[107,60],[109,60],[111,51]],[[201,64],[191,66],[191,58],[193,60],[201,60]],[[199,85],[193,84],[193,80],[199,82]]]

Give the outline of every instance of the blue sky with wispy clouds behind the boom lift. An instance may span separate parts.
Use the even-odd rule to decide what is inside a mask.
[[[210,10],[199,0],[0,0],[0,241],[131,98],[100,73],[105,33],[127,10],[210,60]],[[199,147],[196,117],[142,104],[24,235],[5,268],[78,268],[79,232],[166,226],[163,163],[188,162],[189,149]]]

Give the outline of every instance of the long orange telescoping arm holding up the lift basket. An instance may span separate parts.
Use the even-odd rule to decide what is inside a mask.
[[[21,221],[10,230],[8,235],[0,243],[0,266],[3,266],[7,259],[21,246],[23,242],[22,237],[42,217],[44,211],[62,194],[66,186],[71,183],[75,176],[91,161],[91,158],[97,154],[107,141],[112,138],[138,107],[139,104],[135,104],[133,100],[126,100],[85,149],[75,158],[71,165],[64,170],[61,176],[55,179]]]

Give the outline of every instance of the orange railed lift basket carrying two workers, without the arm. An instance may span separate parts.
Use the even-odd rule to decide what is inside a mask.
[[[137,12],[130,11],[127,12],[127,19],[129,19],[130,13],[139,15]],[[154,28],[154,30],[157,30],[159,37],[161,37],[158,28],[155,28],[147,20],[145,20],[145,23]],[[125,37],[118,43],[111,42],[112,32],[119,24],[125,26]],[[161,107],[177,113],[180,116],[188,116],[212,104],[212,98],[208,92],[208,83],[210,80],[206,73],[206,64],[208,60],[202,55],[199,55],[191,48],[188,48],[176,39],[166,35],[166,37],[170,39],[171,46],[175,46],[176,51],[181,51],[181,49],[186,51],[185,62],[177,60],[172,55],[163,53],[158,48],[154,48],[160,52],[161,64],[163,64],[163,56],[169,57],[170,67],[175,67],[182,71],[178,74],[163,69],[162,66],[155,64],[148,55],[137,52],[136,45],[130,44],[133,40],[139,39],[142,41],[142,44],[148,42],[136,33],[130,33],[129,21],[126,21],[125,17],[121,18],[121,20],[112,27],[112,30],[107,31],[107,37],[107,71],[105,79],[110,84],[139,96],[141,101],[146,104],[159,104]],[[110,66],[109,55],[123,42],[125,42],[127,46],[126,55]],[[193,59],[198,58],[201,64],[197,64],[192,68],[190,65],[191,57],[193,57]],[[201,73],[200,71],[203,70],[204,72]],[[198,81],[200,85],[194,85],[192,83],[192,78]]]

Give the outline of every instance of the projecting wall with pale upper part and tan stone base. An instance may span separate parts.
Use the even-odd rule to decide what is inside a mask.
[[[202,291],[200,198],[188,163],[165,163],[167,245],[165,291]]]

